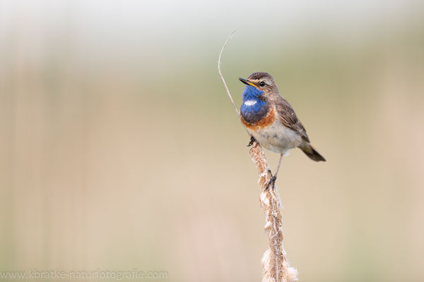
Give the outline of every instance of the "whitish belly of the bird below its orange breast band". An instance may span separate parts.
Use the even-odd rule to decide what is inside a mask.
[[[289,149],[296,148],[303,142],[302,136],[295,130],[283,125],[281,121],[275,121],[272,125],[258,128],[256,132],[249,128],[246,129],[260,145],[279,154],[287,154]]]

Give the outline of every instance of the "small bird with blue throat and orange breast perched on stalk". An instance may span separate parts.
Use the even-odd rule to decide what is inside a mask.
[[[306,130],[296,116],[293,107],[278,92],[272,75],[256,72],[247,79],[239,78],[245,86],[240,107],[240,120],[251,136],[249,145],[256,140],[271,152],[280,154],[276,172],[266,189],[274,187],[283,156],[288,150],[300,148],[314,161],[326,161],[311,145]],[[270,171],[271,172],[271,171]],[[266,190],[265,189],[265,190]]]

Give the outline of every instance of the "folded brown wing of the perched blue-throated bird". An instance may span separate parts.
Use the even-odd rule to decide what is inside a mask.
[[[276,109],[278,117],[285,126],[295,130],[295,132],[301,135],[303,139],[310,142],[309,137],[307,137],[306,130],[296,116],[292,106],[290,106],[287,100],[280,95],[276,98]]]

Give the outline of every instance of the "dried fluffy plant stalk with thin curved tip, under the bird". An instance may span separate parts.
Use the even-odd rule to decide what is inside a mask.
[[[218,73],[221,80],[223,80],[225,90],[227,90],[228,97],[234,106],[235,112],[240,116],[240,112],[235,106],[234,100],[228,90],[227,84],[220,71],[220,59],[225,49],[225,46],[230,41],[234,32],[231,32],[227,41],[223,45],[218,58]],[[277,187],[274,189],[269,188],[265,190],[266,185],[271,180],[271,172],[269,171],[268,163],[266,162],[264,151],[258,142],[254,142],[250,149],[252,161],[256,164],[259,172],[259,188],[261,188],[261,207],[265,212],[265,226],[264,229],[268,231],[269,235],[269,250],[266,250],[264,257],[262,257],[262,282],[294,282],[298,281],[298,271],[290,267],[285,257],[285,250],[283,247],[283,229],[281,226],[281,200],[277,192]]]

